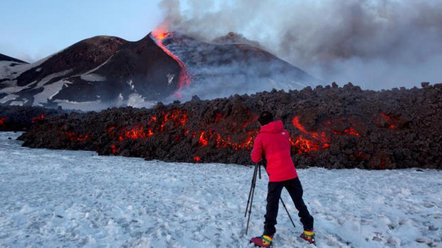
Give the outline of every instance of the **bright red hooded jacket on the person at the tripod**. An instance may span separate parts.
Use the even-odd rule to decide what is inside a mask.
[[[252,160],[258,163],[265,154],[269,181],[280,182],[296,178],[295,166],[290,156],[290,140],[282,121],[273,121],[259,130],[253,144]]]

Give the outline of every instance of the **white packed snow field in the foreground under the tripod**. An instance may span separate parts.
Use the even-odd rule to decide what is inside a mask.
[[[267,176],[245,234],[253,167],[30,149],[19,135],[0,133],[0,247],[251,247],[262,234]],[[441,171],[298,174],[318,247],[442,247]],[[280,205],[273,247],[313,246],[282,197],[296,228]]]

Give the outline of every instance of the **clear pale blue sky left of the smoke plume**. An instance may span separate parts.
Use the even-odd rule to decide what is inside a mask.
[[[97,35],[137,41],[164,18],[156,0],[1,0],[0,53],[34,62]]]

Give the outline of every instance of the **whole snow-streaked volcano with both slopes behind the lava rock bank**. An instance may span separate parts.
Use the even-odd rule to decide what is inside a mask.
[[[250,45],[208,44],[176,33],[164,41],[151,34],[136,42],[97,36],[32,64],[2,63],[0,105],[149,107],[176,100],[178,90],[182,99],[212,99],[318,82]]]

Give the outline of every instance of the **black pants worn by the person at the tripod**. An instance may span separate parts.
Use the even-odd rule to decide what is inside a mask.
[[[282,182],[269,182],[267,192],[267,212],[264,221],[264,235],[271,236],[276,232],[276,217],[278,216],[279,198],[282,188],[285,187],[298,209],[298,216],[304,225],[304,230],[313,229],[313,217],[308,212],[307,206],[302,200],[302,185],[299,178],[293,178]]]

